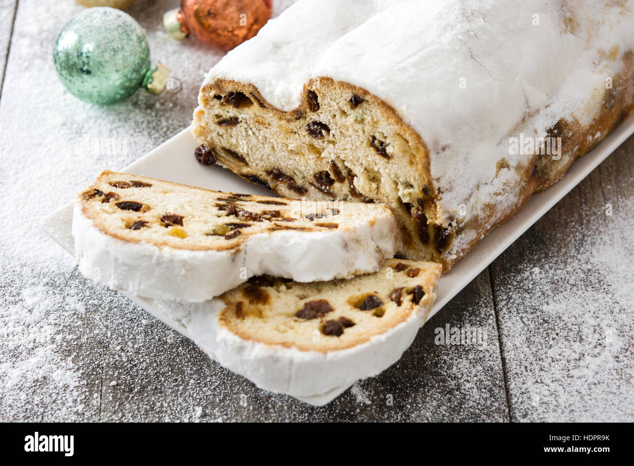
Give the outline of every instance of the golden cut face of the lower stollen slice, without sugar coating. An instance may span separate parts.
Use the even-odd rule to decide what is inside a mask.
[[[406,268],[399,270],[397,264],[404,264]],[[417,275],[408,276],[409,271]],[[319,353],[348,349],[389,332],[408,320],[415,309],[422,309],[426,318],[434,303],[441,273],[441,266],[434,262],[388,259],[380,271],[348,280],[315,283],[276,280],[261,287],[243,283],[220,296],[226,307],[219,314],[219,323],[244,340],[271,347]],[[425,295],[414,304],[408,292],[417,285]],[[397,305],[389,294],[400,287],[404,289],[401,305]],[[354,306],[354,302],[367,294],[376,295],[382,301],[377,309],[382,309],[384,314],[375,316],[372,309],[361,311]],[[306,302],[323,299],[332,304],[332,311],[310,320],[295,316]],[[345,328],[339,336],[325,335],[325,323],[341,317],[356,325]]]

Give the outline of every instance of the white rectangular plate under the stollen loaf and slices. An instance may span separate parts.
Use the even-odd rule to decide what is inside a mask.
[[[462,288],[467,286],[475,276],[493,262],[524,231],[538,221],[548,209],[557,204],[562,197],[605,160],[608,155],[614,152],[632,133],[634,133],[634,115],[630,115],[616,131],[609,134],[592,152],[578,159],[564,178],[546,191],[534,194],[517,214],[491,231],[464,259],[443,276],[439,284],[436,303],[429,314],[429,318],[436,314]],[[183,129],[169,141],[124,168],[122,172],[219,191],[271,195],[271,192],[265,188],[248,183],[228,170],[215,165],[202,167],[193,157],[196,146],[197,142],[191,136],[190,129]],[[86,180],[86,184],[90,181],[92,180]],[[74,254],[74,242],[70,234],[72,213],[71,202],[42,219],[42,228],[70,254]],[[169,325],[169,327],[186,335],[184,327],[180,323],[171,320],[157,302],[138,296],[128,297],[150,314]],[[304,401],[323,405],[345,389],[347,387],[341,387],[321,398],[305,399]]]

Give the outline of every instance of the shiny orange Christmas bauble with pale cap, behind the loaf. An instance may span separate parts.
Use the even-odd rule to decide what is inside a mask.
[[[212,46],[230,50],[257,34],[271,18],[271,0],[183,0],[163,16],[174,39],[190,33]]]

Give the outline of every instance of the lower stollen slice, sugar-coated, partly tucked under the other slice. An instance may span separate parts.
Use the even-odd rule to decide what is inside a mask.
[[[389,259],[349,280],[257,276],[208,302],[162,306],[221,365],[263,389],[322,404],[398,361],[427,319],[441,269]]]

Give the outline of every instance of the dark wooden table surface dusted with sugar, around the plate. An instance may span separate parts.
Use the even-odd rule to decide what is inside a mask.
[[[634,420],[634,137],[434,316],[398,363],[321,408],[257,389],[85,280],[37,225],[102,169],[188,126],[220,55],[162,31],[176,4],[137,0],[127,11],[181,90],[98,107],[65,91],[52,63],[58,32],[82,7],[0,0],[0,420]],[[486,338],[436,344],[446,325]]]

